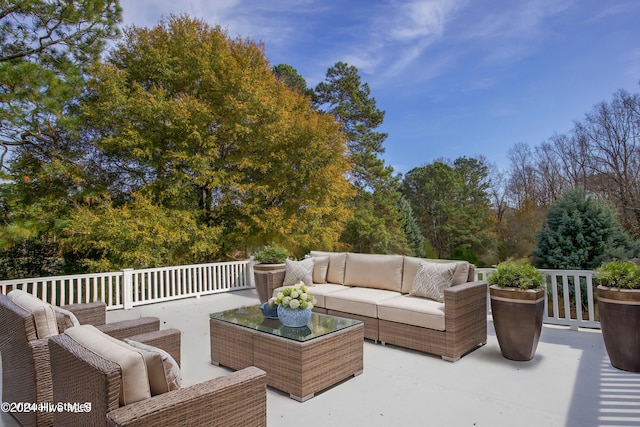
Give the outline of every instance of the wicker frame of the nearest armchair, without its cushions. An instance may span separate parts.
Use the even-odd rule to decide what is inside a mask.
[[[89,402],[90,412],[56,412],[61,426],[266,426],[266,374],[225,377],[119,406],[120,366],[65,334],[49,340],[55,402]]]

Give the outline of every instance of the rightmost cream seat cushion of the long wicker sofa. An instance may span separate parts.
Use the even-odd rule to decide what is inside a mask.
[[[406,325],[444,331],[444,304],[411,295],[381,301],[378,318]]]

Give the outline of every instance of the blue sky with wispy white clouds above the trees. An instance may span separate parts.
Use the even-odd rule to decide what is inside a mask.
[[[507,168],[618,89],[640,92],[637,0],[121,0],[124,25],[186,13],[263,41],[314,87],[355,65],[397,172],[484,155]]]

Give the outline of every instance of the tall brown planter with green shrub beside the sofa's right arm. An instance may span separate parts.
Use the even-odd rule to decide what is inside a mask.
[[[544,314],[544,275],[531,264],[506,261],[489,277],[493,324],[502,356],[533,359]]]

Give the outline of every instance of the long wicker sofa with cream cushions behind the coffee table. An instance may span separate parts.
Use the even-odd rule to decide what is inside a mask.
[[[317,251],[310,255],[314,311],[363,321],[365,338],[452,362],[487,342],[487,283],[473,282],[474,266],[466,261]],[[429,261],[456,263],[444,302],[411,295],[421,262]]]

